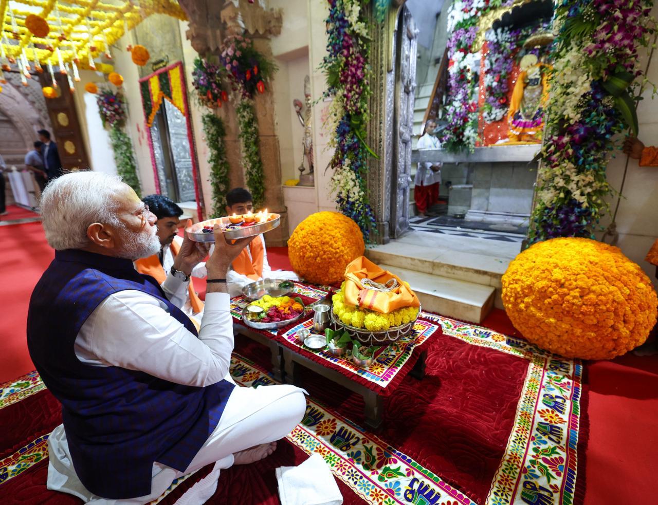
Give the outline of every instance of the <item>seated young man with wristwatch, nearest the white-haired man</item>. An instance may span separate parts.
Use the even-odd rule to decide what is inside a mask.
[[[140,258],[135,262],[135,268],[140,274],[155,277],[158,283],[163,283],[168,274],[180,278],[181,281],[190,281],[190,276],[201,279],[207,276],[205,263],[201,262],[192,270],[190,276],[174,269],[174,261],[183,243],[182,237],[178,237],[178,224],[183,210],[163,195],[148,195],[141,199],[150,212],[157,218],[157,237],[160,240],[161,249],[157,254]],[[182,285],[181,288],[183,289]],[[190,281],[186,287],[186,293],[179,293],[185,299],[182,307],[183,312],[192,320],[197,329],[203,318],[203,301],[194,291],[193,283]]]

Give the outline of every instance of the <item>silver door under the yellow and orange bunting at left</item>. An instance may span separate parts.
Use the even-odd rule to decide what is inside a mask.
[[[195,201],[188,124],[167,99],[153,120],[151,139],[160,192],[175,202]]]

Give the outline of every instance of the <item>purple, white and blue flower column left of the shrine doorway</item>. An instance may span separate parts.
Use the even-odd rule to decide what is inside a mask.
[[[333,97],[328,130],[334,132],[330,162],[334,170],[330,189],[340,212],[353,219],[366,241],[374,213],[367,196],[368,156],[376,153],[365,142],[370,118],[370,38],[361,0],[328,0],[327,51],[321,68],[326,73],[325,97]]]

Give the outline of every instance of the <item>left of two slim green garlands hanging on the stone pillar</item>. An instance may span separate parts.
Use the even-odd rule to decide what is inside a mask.
[[[226,159],[226,145],[224,135],[226,130],[224,122],[215,114],[207,113],[201,117],[205,142],[210,151],[208,164],[210,165],[210,183],[213,190],[213,215],[218,218],[226,214],[226,193],[228,193],[228,160]]]

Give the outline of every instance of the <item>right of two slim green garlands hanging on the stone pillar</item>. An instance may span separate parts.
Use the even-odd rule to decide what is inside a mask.
[[[253,205],[260,208],[265,203],[265,174],[261,160],[260,140],[258,136],[258,120],[254,112],[253,102],[242,98],[238,107],[238,139],[240,139],[240,155],[245,171],[245,181],[253,197]]]

